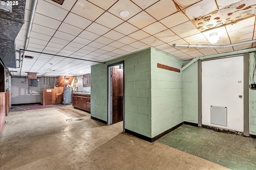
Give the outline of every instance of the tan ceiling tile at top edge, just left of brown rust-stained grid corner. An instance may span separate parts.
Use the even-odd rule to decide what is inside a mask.
[[[147,8],[145,11],[148,12],[151,16],[156,18],[156,20],[161,20],[166,16],[169,16],[175,12],[177,12],[176,5],[173,1],[170,0],[160,0],[156,2],[154,5]]]

